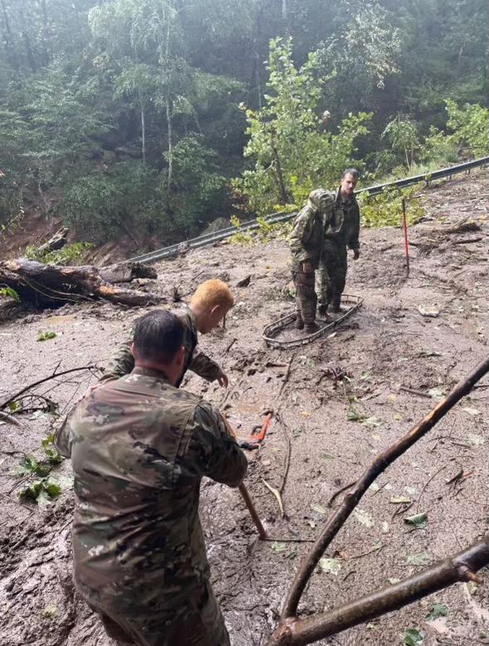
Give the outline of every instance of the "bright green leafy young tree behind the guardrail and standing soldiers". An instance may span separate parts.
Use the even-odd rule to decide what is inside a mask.
[[[298,70],[291,47],[290,38],[271,41],[266,104],[259,110],[242,105],[250,137],[244,154],[255,160],[255,167],[232,185],[258,214],[276,209],[277,203],[282,208],[287,202],[300,205],[313,188],[335,183],[351,165],[355,140],[368,132],[366,113],[349,114],[336,134],[320,131],[322,81],[316,74],[316,56],[310,54]]]

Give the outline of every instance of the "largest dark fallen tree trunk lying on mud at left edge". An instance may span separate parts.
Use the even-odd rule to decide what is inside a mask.
[[[98,298],[129,306],[167,300],[156,294],[116,287],[104,280],[96,267],[44,265],[26,258],[0,262],[1,285],[15,289],[21,300],[37,307]]]

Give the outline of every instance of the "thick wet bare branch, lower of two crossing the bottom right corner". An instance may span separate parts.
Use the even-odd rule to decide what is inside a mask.
[[[441,563],[388,588],[346,603],[331,612],[320,613],[303,620],[284,618],[266,642],[266,646],[304,646],[338,634],[386,612],[398,610],[457,581],[479,580],[475,572],[488,563],[489,535]]]

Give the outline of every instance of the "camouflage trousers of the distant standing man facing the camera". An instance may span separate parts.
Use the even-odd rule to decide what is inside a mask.
[[[318,307],[324,311],[330,303],[333,308],[340,306],[341,295],[346,284],[346,269],[346,245],[325,240],[316,272]]]

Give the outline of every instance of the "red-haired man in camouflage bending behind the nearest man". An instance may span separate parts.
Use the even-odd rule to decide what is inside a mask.
[[[185,346],[185,365],[176,386],[180,386],[187,370],[192,370],[207,381],[218,380],[221,386],[227,386],[228,380],[220,366],[209,359],[197,348],[197,333],[206,334],[216,328],[233,307],[234,298],[229,287],[219,280],[205,280],[194,292],[190,305],[176,312],[185,329],[183,345]],[[130,351],[132,340],[121,343],[112,353],[101,381],[117,379],[127,375],[134,368],[134,357]]]

